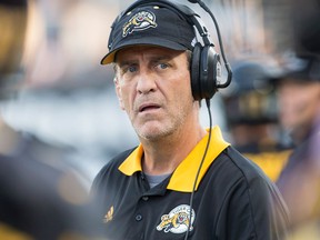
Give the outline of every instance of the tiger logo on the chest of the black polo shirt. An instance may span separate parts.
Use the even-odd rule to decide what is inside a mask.
[[[188,230],[190,224],[190,231],[192,231],[196,213],[192,209],[192,217],[190,220],[190,207],[188,204],[181,204],[172,209],[169,214],[161,217],[160,224],[157,226],[158,231],[183,233]]]

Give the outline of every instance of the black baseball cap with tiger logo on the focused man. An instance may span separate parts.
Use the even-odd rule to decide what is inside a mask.
[[[137,44],[151,44],[173,50],[191,50],[196,43],[193,26],[179,11],[152,2],[121,13],[112,24],[109,52],[101,64],[114,61],[116,53]]]

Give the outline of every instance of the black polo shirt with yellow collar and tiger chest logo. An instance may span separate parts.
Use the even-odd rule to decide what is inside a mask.
[[[189,221],[189,203],[208,134],[174,172],[150,189],[141,169],[142,146],[112,159],[96,177],[92,193],[104,208],[110,239],[278,239],[287,223],[278,190],[251,161],[212,129]],[[280,239],[280,237],[279,237]]]

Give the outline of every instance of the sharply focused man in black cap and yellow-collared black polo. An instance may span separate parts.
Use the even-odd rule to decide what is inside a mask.
[[[94,179],[108,237],[280,239],[287,214],[276,187],[219,127],[199,122],[190,84],[197,39],[181,9],[139,1],[113,23],[102,63],[114,62],[120,107],[140,144]]]

